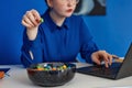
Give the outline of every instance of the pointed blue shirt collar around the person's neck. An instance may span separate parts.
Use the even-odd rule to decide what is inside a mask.
[[[65,19],[64,23],[62,26],[57,26],[54,21],[52,20],[52,18],[50,16],[50,10],[47,10],[44,14],[44,21],[45,23],[47,23],[48,28],[51,31],[55,31],[57,28],[62,29],[65,28],[66,30],[69,29],[69,22],[68,22],[68,18]]]

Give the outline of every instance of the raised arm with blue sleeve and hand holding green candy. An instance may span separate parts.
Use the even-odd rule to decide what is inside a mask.
[[[21,61],[28,67],[32,63],[42,62],[41,34],[38,32],[41,24],[40,13],[36,10],[26,11],[22,24],[25,26],[25,31],[23,33]]]

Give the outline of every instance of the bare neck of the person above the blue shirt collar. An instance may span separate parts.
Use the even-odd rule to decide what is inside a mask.
[[[58,25],[58,26],[62,26],[63,23],[64,23],[64,21],[65,21],[65,19],[66,19],[66,18],[64,18],[64,16],[57,15],[57,14],[56,14],[55,12],[53,12],[53,11],[50,12],[50,15],[51,15],[52,20],[53,20],[53,21],[56,23],[56,25]]]

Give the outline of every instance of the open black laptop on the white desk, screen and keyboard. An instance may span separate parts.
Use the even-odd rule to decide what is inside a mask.
[[[114,62],[109,68],[106,68],[105,65],[80,67],[77,68],[77,73],[109,79],[121,79],[132,76],[132,43],[122,63]]]

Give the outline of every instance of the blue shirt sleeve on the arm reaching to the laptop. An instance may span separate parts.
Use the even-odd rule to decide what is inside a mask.
[[[84,20],[81,20],[80,26],[80,55],[87,63],[92,64],[94,62],[91,61],[91,54],[97,52],[99,48],[92,41],[92,36]]]

